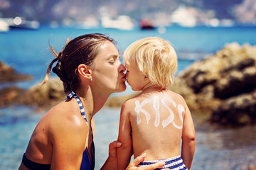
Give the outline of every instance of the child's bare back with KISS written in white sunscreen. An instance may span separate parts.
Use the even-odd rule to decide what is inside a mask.
[[[146,152],[147,160],[180,155],[186,103],[169,90],[143,93],[129,99],[134,157]]]

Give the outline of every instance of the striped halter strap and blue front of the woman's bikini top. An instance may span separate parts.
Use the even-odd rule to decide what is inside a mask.
[[[72,97],[74,97],[75,100],[78,101],[78,105],[80,107],[82,118],[85,119],[85,122],[88,126],[87,118],[86,118],[86,115],[85,115],[85,110],[82,106],[82,102],[80,101],[78,96],[75,95],[75,93],[73,91],[68,95],[68,98],[72,98]],[[80,166],[80,170],[93,170],[93,169],[95,169],[95,145],[94,145],[94,142],[93,142],[93,134],[92,134],[92,147],[90,148],[90,151],[92,153],[92,159],[90,158],[89,150],[87,149],[87,147],[86,147],[85,151],[83,152],[83,154],[82,154],[82,163],[81,163],[81,166]]]

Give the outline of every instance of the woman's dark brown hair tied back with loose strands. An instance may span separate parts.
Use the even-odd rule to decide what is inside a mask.
[[[99,33],[86,34],[80,35],[71,41],[68,39],[65,47],[58,54],[53,50],[53,47],[50,47],[50,51],[55,56],[55,59],[50,62],[42,84],[48,81],[50,69],[53,67],[54,62],[58,61],[55,67],[53,67],[53,72],[63,81],[65,94],[75,91],[80,84],[78,66],[80,64],[91,66],[100,46],[106,40],[114,42],[114,40],[107,35]]]

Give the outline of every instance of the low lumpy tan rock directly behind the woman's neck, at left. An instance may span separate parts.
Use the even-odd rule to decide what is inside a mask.
[[[14,105],[29,106],[36,110],[52,108],[66,98],[63,83],[58,78],[51,78],[46,84],[37,84],[30,89],[9,86],[0,90],[0,108]]]

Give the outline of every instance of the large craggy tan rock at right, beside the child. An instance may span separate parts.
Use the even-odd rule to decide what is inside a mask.
[[[236,42],[191,64],[170,89],[181,94],[191,111],[208,114],[222,125],[255,123],[256,47]]]

